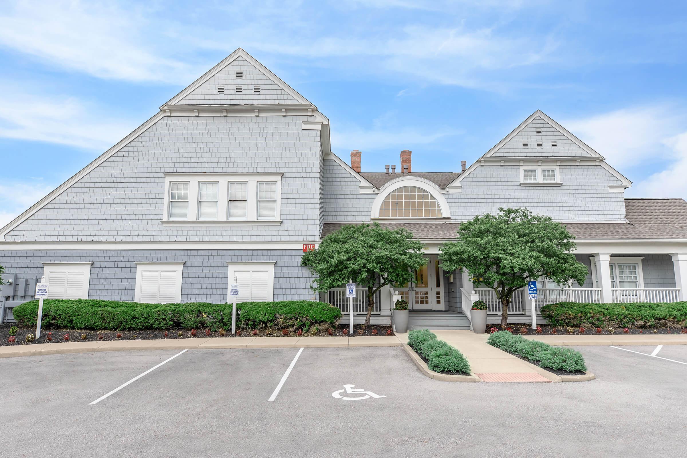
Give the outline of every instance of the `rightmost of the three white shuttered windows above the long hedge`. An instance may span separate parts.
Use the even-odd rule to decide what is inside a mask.
[[[232,301],[232,297],[229,297],[229,286],[234,284],[234,279],[238,284],[237,302],[273,301],[274,264],[274,261],[227,262],[227,301]]]

